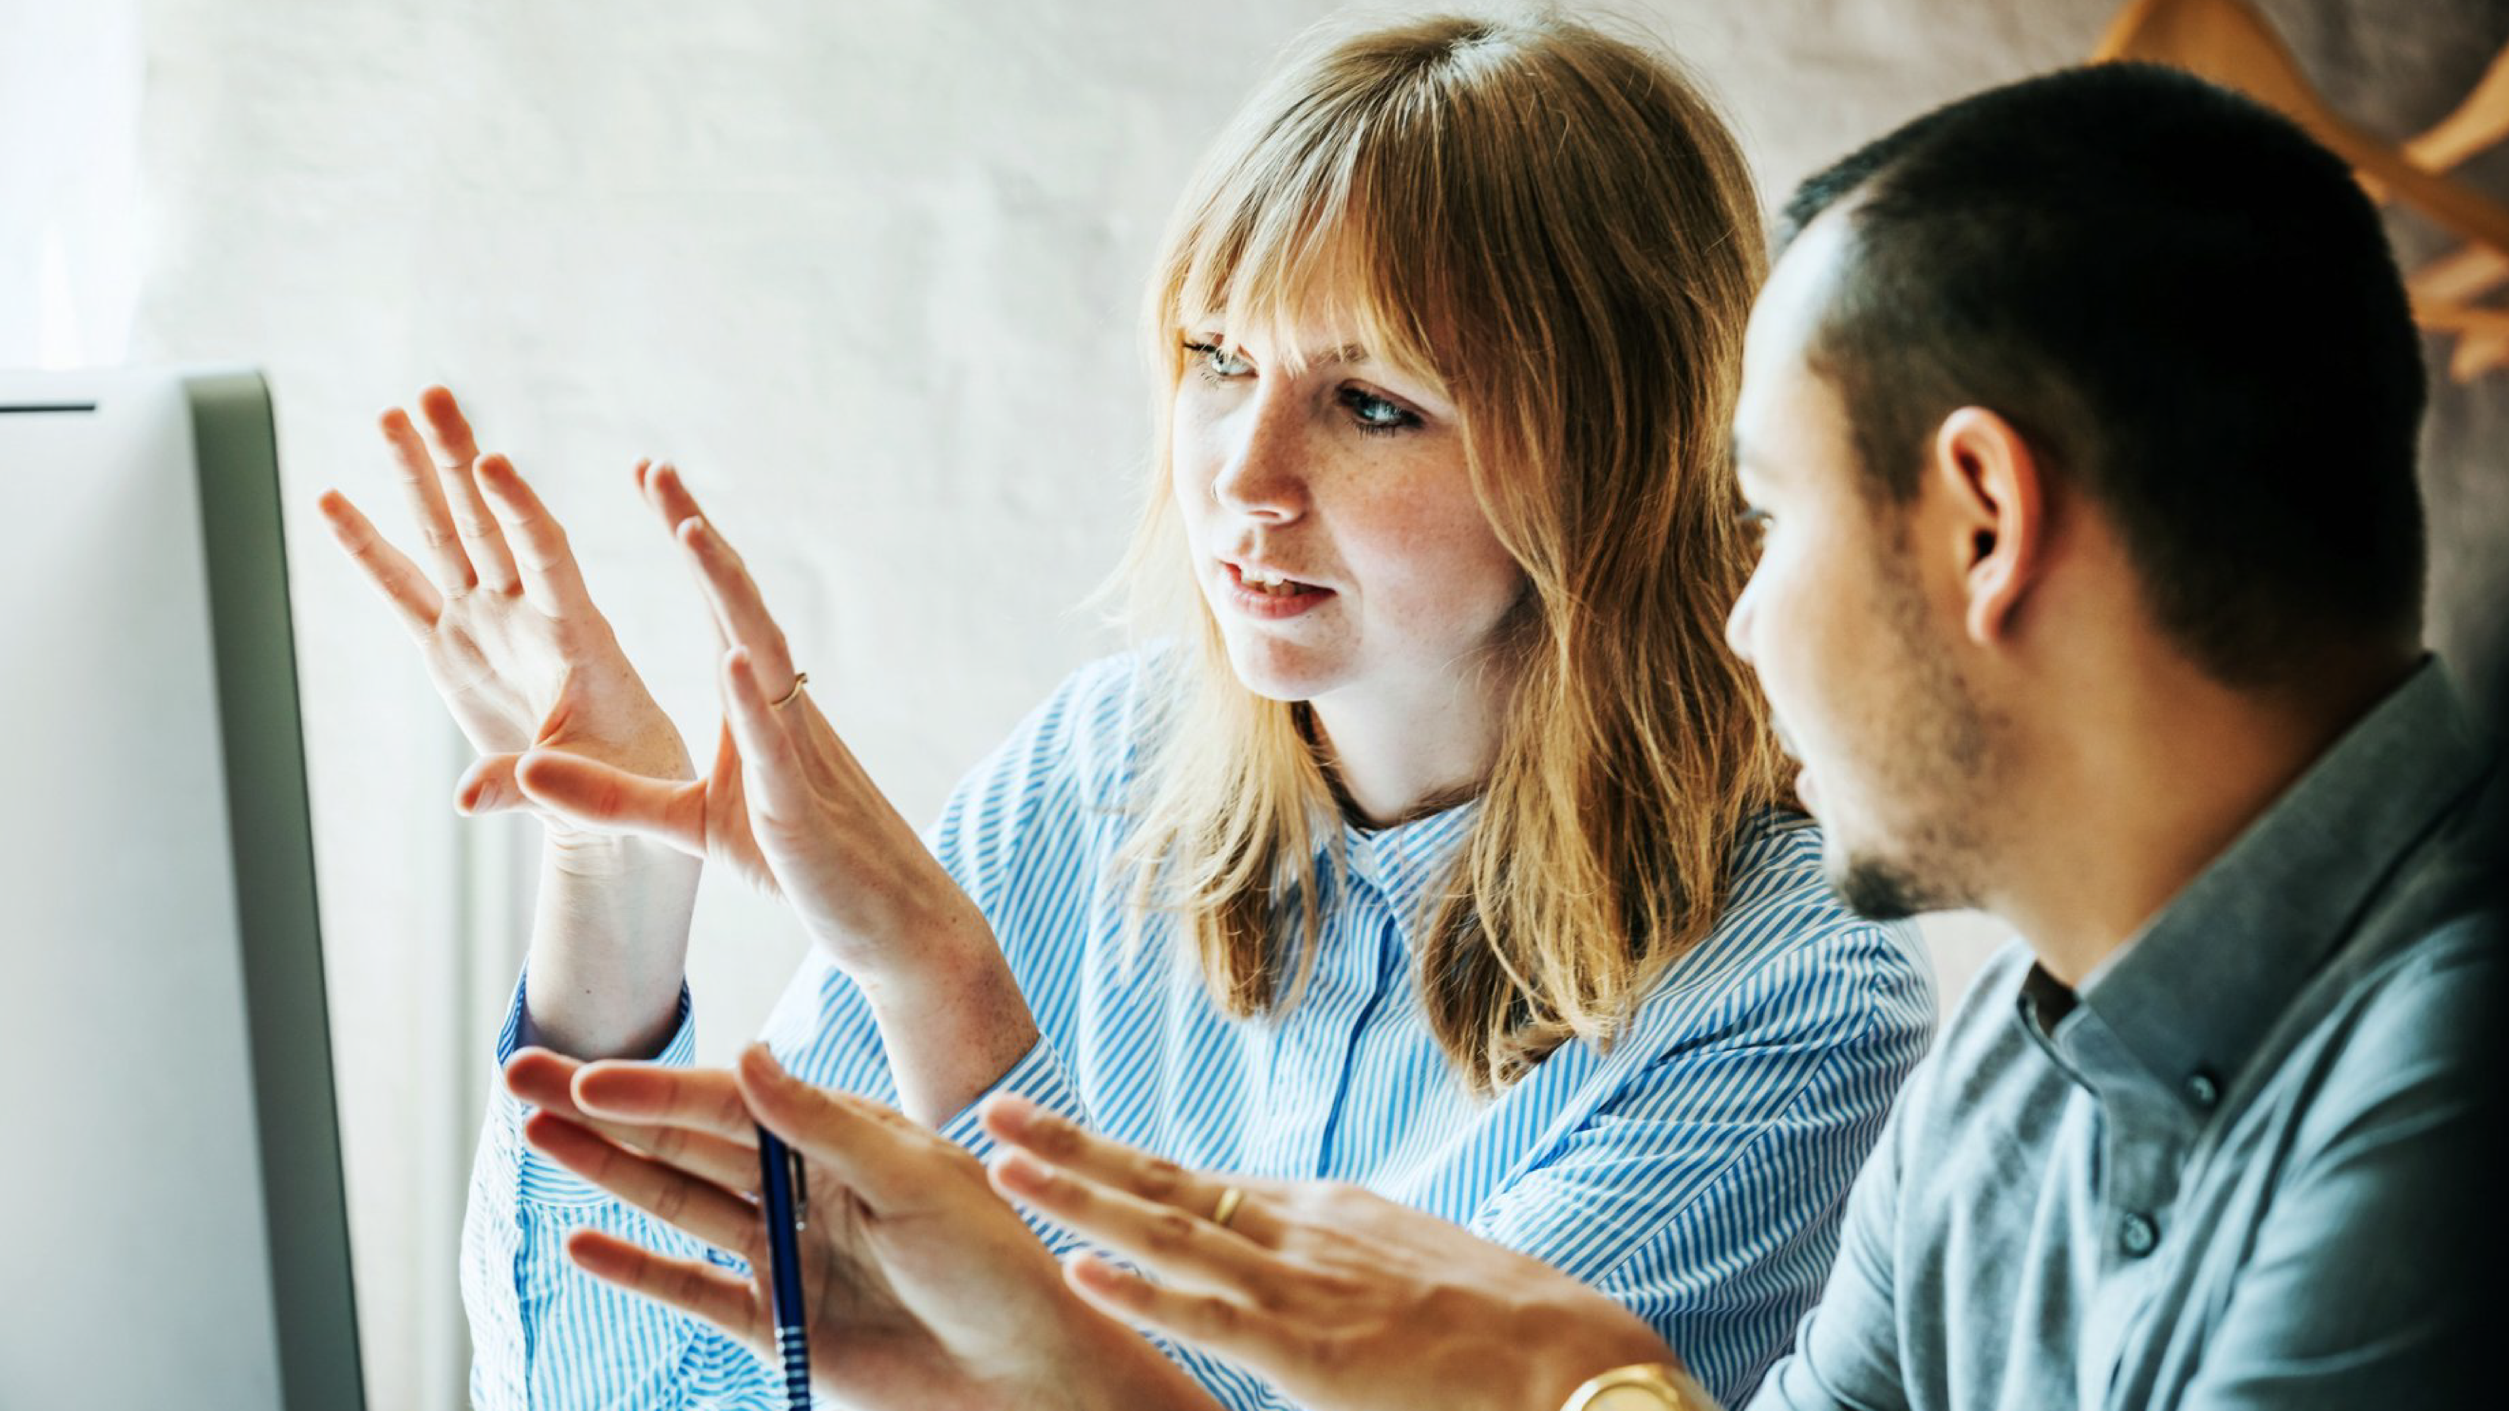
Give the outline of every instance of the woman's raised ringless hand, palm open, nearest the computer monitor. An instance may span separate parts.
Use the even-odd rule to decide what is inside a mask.
[[[577,830],[514,784],[527,749],[687,779],[680,732],[620,652],[575,566],[567,534],[504,456],[482,456],[454,393],[419,393],[427,436],[399,406],[384,444],[416,521],[419,559],[386,541],[339,491],[321,496],[341,551],[384,594],[479,759],[454,787],[464,812],[527,807],[552,835]],[[432,441],[432,446],[429,446]],[[645,466],[637,466],[642,484]]]

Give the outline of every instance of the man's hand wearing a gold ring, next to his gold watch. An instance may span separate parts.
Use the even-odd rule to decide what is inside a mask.
[[[1601,1371],[1674,1361],[1603,1293],[1355,1185],[1187,1170],[1019,1098],[986,1100],[984,1128],[1004,1195],[1157,1276],[1084,1253],[1079,1293],[1302,1406],[1553,1411]]]

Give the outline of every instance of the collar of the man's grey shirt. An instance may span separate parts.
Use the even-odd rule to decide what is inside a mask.
[[[2426,659],[2080,995],[2032,967],[2025,1028],[2077,1075],[2140,1068],[2185,1108],[2210,1108],[2358,927],[2379,882],[2484,769],[2454,682]]]

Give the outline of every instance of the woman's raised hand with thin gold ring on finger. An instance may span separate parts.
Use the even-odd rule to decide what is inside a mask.
[[[560,817],[713,857],[790,902],[871,997],[906,1110],[941,1123],[1036,1043],[1026,1000],[984,912],[798,689],[783,629],[740,554],[675,469],[652,469],[645,491],[725,647],[715,764],[680,782],[534,749],[514,777]]]

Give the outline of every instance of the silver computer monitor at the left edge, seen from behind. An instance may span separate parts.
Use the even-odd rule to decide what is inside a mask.
[[[0,373],[0,1406],[364,1406],[271,401]]]

